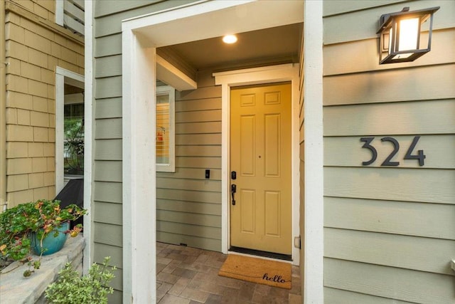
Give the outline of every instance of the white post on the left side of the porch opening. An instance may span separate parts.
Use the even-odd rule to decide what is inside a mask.
[[[122,31],[123,303],[156,302],[156,48]]]

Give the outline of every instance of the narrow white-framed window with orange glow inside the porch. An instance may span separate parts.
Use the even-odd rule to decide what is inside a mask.
[[[169,85],[156,87],[156,171],[175,172],[176,90]]]

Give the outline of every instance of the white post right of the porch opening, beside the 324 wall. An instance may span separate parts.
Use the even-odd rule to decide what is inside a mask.
[[[304,8],[304,303],[323,303],[323,1]]]

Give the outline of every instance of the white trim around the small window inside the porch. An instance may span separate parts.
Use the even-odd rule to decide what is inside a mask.
[[[156,95],[169,96],[169,163],[156,164],[156,172],[176,172],[176,90],[163,85],[156,87]]]

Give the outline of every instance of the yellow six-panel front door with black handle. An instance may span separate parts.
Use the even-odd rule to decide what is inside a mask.
[[[230,107],[231,246],[289,255],[291,85],[232,88]]]

